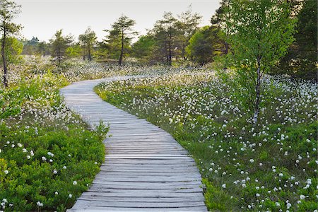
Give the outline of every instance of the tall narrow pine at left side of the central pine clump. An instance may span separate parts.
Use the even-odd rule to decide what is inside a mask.
[[[158,56],[172,65],[172,56],[177,49],[177,36],[179,35],[177,18],[171,12],[165,12],[163,19],[157,20],[153,27],[153,35],[156,40],[155,49]]]

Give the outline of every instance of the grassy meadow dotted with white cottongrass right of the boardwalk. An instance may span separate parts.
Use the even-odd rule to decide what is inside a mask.
[[[172,74],[102,83],[95,91],[187,148],[204,177],[209,210],[317,209],[317,84],[271,78],[257,126],[230,85],[209,73]]]

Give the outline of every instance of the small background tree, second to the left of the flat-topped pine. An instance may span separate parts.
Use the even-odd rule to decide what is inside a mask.
[[[61,64],[61,60],[65,57],[66,49],[73,41],[73,38],[70,35],[63,36],[62,30],[57,30],[57,33],[49,41],[52,45],[52,56],[57,57],[57,61]]]

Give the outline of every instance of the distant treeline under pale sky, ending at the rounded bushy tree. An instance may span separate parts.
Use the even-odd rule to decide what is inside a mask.
[[[57,61],[70,57],[84,60],[118,61],[134,59],[143,63],[193,61],[206,64],[213,57],[227,54],[228,46],[220,36],[220,25],[211,20],[211,26],[199,28],[202,17],[189,7],[187,11],[174,16],[165,12],[146,35],[138,36],[134,30],[135,20],[122,15],[109,30],[102,42],[97,41],[95,32],[88,28],[78,36],[78,42],[71,35],[62,35],[58,30],[49,42],[39,42],[37,37],[23,40],[23,54],[51,55]],[[133,39],[138,38],[132,43]]]

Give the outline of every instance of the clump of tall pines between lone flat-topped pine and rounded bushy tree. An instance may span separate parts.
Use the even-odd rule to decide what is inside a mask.
[[[187,61],[189,54],[186,49],[190,38],[199,29],[201,18],[198,13],[192,12],[191,7],[178,16],[165,12],[163,18],[156,21],[146,37],[139,37],[132,51],[138,54],[137,52],[141,52],[142,49],[148,49],[148,54],[139,54],[139,58],[162,62],[169,66],[174,60]]]

